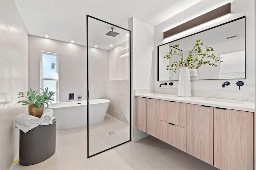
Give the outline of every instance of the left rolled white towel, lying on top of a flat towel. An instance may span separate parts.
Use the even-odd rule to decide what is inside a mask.
[[[20,114],[14,118],[14,121],[16,123],[19,123],[21,125],[27,126],[27,127],[33,127],[33,126],[38,126],[39,125],[39,118],[32,116],[32,115],[27,115],[27,114]]]

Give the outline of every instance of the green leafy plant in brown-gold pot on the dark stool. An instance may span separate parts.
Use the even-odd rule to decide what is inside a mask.
[[[32,91],[30,88],[28,92],[19,92],[17,95],[20,97],[26,98],[26,100],[18,101],[18,103],[23,103],[22,105],[28,105],[28,113],[30,115],[41,117],[44,111],[44,105],[46,108],[49,106],[51,101],[54,101],[54,93],[53,91],[48,91],[48,87],[46,89],[42,89],[42,93],[38,93],[38,91]]]

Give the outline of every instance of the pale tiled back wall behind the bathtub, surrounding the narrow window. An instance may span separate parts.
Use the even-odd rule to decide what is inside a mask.
[[[74,93],[74,100],[70,101],[86,100],[86,46],[29,35],[28,75],[33,90],[40,89],[40,51],[58,53],[59,102],[69,101],[68,93]],[[109,51],[89,47],[89,54],[90,99],[105,98]]]

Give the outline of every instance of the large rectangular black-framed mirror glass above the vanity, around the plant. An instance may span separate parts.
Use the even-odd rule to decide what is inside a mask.
[[[212,53],[220,58],[222,63],[216,63],[217,67],[204,65],[198,68],[198,79],[245,79],[245,16],[235,20],[214,26],[201,32],[158,45],[158,81],[178,80],[179,69],[174,73],[167,71],[166,66],[173,61],[178,61],[179,57],[164,59],[164,55],[170,51],[173,45],[179,44],[184,57],[196,40],[201,39],[202,49],[205,46],[214,48]]]

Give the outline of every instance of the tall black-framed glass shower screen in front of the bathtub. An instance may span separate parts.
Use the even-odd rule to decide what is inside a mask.
[[[130,31],[87,16],[88,158],[130,141]]]

